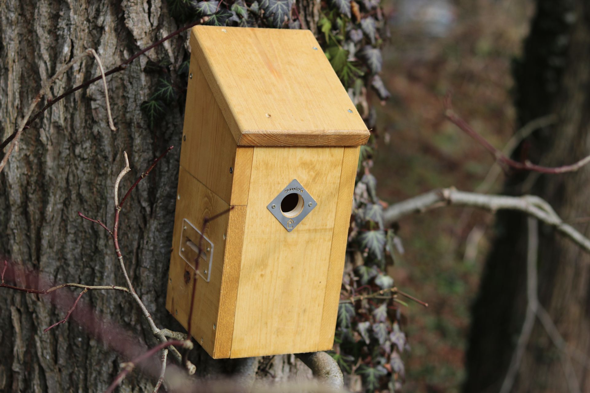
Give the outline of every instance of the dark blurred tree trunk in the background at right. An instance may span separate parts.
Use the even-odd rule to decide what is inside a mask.
[[[559,166],[590,154],[590,4],[537,0],[532,29],[515,71],[520,124],[549,113],[559,118],[555,126],[537,131],[515,158]],[[566,220],[590,215],[588,166],[571,174],[515,174],[506,191],[537,194]],[[590,236],[587,223],[576,227]],[[499,391],[525,316],[525,217],[502,214],[497,233],[473,306],[466,392]],[[590,355],[590,255],[542,225],[539,241],[540,303],[569,346]],[[568,392],[576,391],[575,385],[579,391],[590,391],[587,368],[572,361],[575,377],[566,377],[561,358],[562,352],[537,319],[512,391]]]

